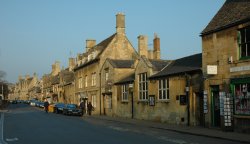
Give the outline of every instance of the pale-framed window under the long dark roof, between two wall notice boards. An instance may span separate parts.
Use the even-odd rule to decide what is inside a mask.
[[[163,79],[159,80],[159,100],[169,99],[169,80]]]

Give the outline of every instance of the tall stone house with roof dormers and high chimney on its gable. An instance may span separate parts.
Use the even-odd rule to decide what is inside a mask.
[[[100,78],[101,67],[107,58],[128,60],[137,53],[125,33],[125,15],[116,15],[116,33],[96,44],[95,40],[86,40],[86,52],[78,54],[75,72],[75,96],[79,102],[91,102],[95,108],[93,114],[103,114]]]

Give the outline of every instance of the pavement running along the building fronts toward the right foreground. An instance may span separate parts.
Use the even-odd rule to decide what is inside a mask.
[[[237,133],[237,132],[225,132],[221,129],[211,129],[211,128],[204,128],[200,126],[183,126],[183,125],[169,125],[166,123],[158,123],[146,120],[136,120],[136,119],[129,119],[129,118],[119,118],[119,117],[109,117],[109,116],[90,116],[88,118],[106,120],[106,121],[114,121],[114,122],[122,122],[134,125],[145,126],[149,128],[155,129],[162,129],[162,130],[169,130],[178,133],[184,134],[191,134],[197,136],[205,136],[205,137],[212,137],[218,139],[225,139],[235,142],[243,142],[243,143],[250,143],[250,135]]]

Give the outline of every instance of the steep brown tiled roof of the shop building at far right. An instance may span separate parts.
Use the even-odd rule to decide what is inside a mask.
[[[249,0],[227,0],[201,35],[207,35],[250,21]]]

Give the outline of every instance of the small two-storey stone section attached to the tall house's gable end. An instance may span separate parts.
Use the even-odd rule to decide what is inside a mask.
[[[102,111],[104,115],[130,117],[131,110],[129,97],[126,91],[128,87],[123,87],[124,91],[118,88],[117,83],[131,74],[134,75],[133,60],[106,59],[101,69],[101,94]],[[123,96],[121,96],[121,94]]]

